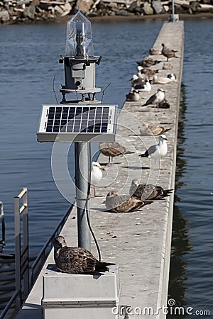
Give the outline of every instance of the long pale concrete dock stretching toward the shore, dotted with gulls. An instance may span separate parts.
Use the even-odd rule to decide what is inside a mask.
[[[116,140],[134,153],[115,157],[113,165],[107,165],[107,157],[99,156],[98,162],[107,165],[107,175],[102,181],[102,186],[97,187],[97,193],[102,197],[91,198],[89,203],[91,225],[99,242],[102,260],[119,264],[120,304],[129,306],[129,318],[166,317],[162,308],[167,306],[174,192],[165,199],[156,200],[133,213],[109,213],[106,211],[104,200],[111,190],[119,191],[119,194],[129,194],[132,179],[163,186],[163,189],[175,187],[183,38],[182,21],[163,24],[153,47],[161,49],[161,43],[165,43],[168,47],[178,50],[178,58],[170,59],[173,69],[169,70],[162,69],[165,57],[152,56],[162,62],[151,68],[159,69],[158,75],[162,77],[174,73],[177,81],[164,85],[153,84],[151,92],[140,93],[140,101],[124,103],[119,114]],[[143,57],[138,57],[138,60],[140,58],[143,60]],[[133,73],[136,72],[136,69],[133,70]],[[154,111],[152,106],[141,107],[158,88],[166,91],[165,97],[170,103],[170,108]],[[155,169],[152,160],[138,157],[149,146],[158,142],[158,137],[140,135],[140,128],[144,123],[171,128],[166,133],[168,154],[161,160],[163,170]],[[67,245],[77,245],[76,208],[72,210],[61,235],[65,236]],[[92,253],[97,256],[93,242]],[[43,318],[42,276],[47,264],[54,264],[53,251],[50,252],[40,276],[16,318]],[[153,312],[149,310],[151,312],[148,314],[147,308],[153,309]]]

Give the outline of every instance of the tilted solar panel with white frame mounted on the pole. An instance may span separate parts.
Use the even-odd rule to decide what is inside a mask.
[[[39,142],[114,141],[116,105],[43,105],[37,133]]]

